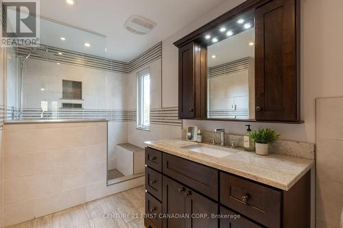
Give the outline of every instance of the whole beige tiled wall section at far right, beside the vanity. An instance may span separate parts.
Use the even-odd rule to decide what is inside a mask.
[[[316,100],[317,228],[340,228],[343,213],[343,97]]]

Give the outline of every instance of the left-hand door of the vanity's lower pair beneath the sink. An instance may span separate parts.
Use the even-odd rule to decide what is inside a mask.
[[[185,186],[163,176],[163,214],[185,214]],[[185,228],[185,218],[163,218],[163,228]]]

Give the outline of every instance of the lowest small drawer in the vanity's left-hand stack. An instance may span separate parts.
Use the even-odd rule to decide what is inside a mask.
[[[159,217],[162,214],[162,203],[158,202],[148,192],[145,192],[145,214],[156,227],[162,228],[162,218]],[[146,222],[148,222],[148,220]]]

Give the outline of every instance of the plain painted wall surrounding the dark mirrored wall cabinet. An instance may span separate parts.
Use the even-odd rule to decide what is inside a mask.
[[[194,29],[234,8],[243,0],[226,0],[217,8],[202,15],[176,34],[163,40],[163,105],[178,103],[178,50],[172,44]],[[302,0],[301,5],[301,118],[305,124],[254,123],[253,128],[271,127],[281,133],[281,138],[315,142],[316,97],[342,96],[343,84],[343,1]],[[224,127],[233,134],[244,134],[246,123],[215,121],[183,121],[183,127],[198,125],[206,131]]]

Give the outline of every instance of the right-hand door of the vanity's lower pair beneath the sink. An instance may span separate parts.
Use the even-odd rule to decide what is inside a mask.
[[[217,203],[189,189],[185,191],[185,203],[185,212],[189,217],[186,220],[186,228],[218,227],[218,219],[212,218],[218,214]]]

